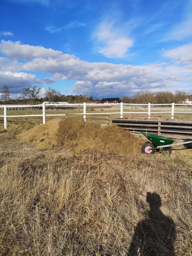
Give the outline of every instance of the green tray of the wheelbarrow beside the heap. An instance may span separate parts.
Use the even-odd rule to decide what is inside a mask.
[[[159,136],[159,135],[146,133],[146,132],[141,132],[141,133],[157,147],[170,145],[175,141],[174,139],[167,138],[165,136]]]

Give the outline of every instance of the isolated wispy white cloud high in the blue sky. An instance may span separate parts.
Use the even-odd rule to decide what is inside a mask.
[[[99,49],[98,52],[106,57],[124,57],[133,40],[128,38],[123,29],[116,27],[112,22],[102,22],[95,33]]]

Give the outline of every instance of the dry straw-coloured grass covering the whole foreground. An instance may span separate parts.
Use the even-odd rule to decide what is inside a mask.
[[[192,255],[192,150],[38,150],[35,120],[0,126],[1,256]]]

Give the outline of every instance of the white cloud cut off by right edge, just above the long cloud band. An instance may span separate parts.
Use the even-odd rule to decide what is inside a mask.
[[[172,50],[167,50],[163,53],[164,57],[172,60],[180,60],[181,63],[192,62],[192,43],[179,46]]]

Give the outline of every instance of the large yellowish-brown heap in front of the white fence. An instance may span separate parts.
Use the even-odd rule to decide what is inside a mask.
[[[82,119],[53,119],[36,125],[19,135],[20,140],[34,143],[36,149],[70,145],[76,152],[87,149],[129,155],[139,153],[143,141],[118,125],[101,127]]]

